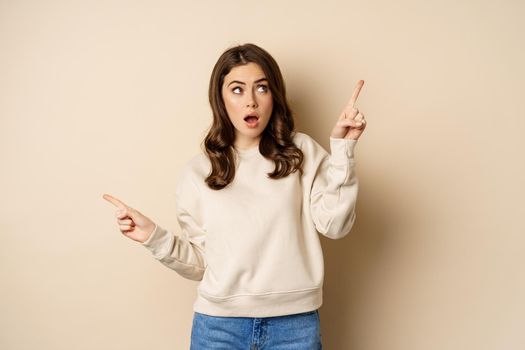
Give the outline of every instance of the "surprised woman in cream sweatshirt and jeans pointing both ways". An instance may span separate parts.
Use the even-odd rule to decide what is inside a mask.
[[[205,154],[176,188],[181,235],[116,198],[121,232],[181,276],[201,281],[191,349],[320,349],[319,233],[355,221],[354,147],[365,128],[360,80],[330,134],[331,154],[294,130],[285,84],[264,49],[226,50],[213,69]]]

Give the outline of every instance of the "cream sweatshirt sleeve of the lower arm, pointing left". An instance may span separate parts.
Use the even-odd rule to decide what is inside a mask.
[[[183,172],[175,191],[176,214],[182,234],[175,235],[157,224],[148,240],[142,243],[155,259],[194,281],[202,280],[207,266],[206,231],[201,225],[198,198],[197,186],[187,172]]]

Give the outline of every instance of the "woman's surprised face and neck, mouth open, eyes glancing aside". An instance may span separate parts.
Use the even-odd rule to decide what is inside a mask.
[[[273,109],[272,93],[261,67],[250,62],[232,68],[224,77],[222,98],[235,127],[235,147],[257,146]]]

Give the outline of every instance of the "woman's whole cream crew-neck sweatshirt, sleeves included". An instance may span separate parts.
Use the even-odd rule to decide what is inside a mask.
[[[207,156],[192,158],[176,187],[182,234],[156,225],[142,243],[167,267],[201,281],[194,311],[212,316],[269,317],[311,311],[322,304],[323,252],[319,233],[348,234],[355,221],[356,140],[330,137],[331,155],[307,134],[304,174],[266,176],[274,163],[259,148],[237,150],[232,183],[210,189]]]

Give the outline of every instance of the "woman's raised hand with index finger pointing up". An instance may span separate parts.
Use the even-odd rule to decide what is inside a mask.
[[[361,91],[364,83],[364,80],[359,80],[357,82],[350,101],[341,112],[341,115],[337,119],[337,123],[332,129],[332,133],[330,134],[331,137],[337,139],[345,138],[357,140],[365,130],[365,115],[355,108],[357,96],[359,96],[359,92]]]

